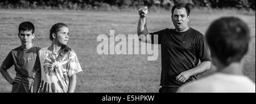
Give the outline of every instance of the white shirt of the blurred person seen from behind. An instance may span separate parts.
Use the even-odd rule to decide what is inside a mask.
[[[214,73],[181,86],[179,93],[255,93],[255,83],[247,76]]]

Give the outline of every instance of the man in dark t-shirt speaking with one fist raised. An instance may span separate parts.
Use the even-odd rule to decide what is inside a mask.
[[[147,7],[139,8],[137,33],[141,37],[140,41],[161,45],[162,88],[159,93],[175,93],[179,86],[196,80],[197,75],[210,68],[211,60],[204,35],[188,27],[189,7],[177,3],[171,13],[175,29],[166,28],[149,33],[146,24]]]

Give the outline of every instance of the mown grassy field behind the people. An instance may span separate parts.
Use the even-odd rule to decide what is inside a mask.
[[[170,12],[149,12],[148,31],[174,28]],[[236,12],[214,11],[191,13],[189,27],[205,33],[209,24],[221,16],[238,16],[251,29],[249,53],[245,57],[246,76],[255,82],[255,13],[241,15]],[[69,26],[69,42],[81,64],[83,72],[77,77],[76,92],[158,92],[160,88],[161,58],[160,46],[158,60],[148,61],[148,55],[99,55],[96,41],[99,34],[136,34],[138,12],[69,11],[69,10],[1,10],[0,9],[0,63],[11,49],[20,45],[18,25],[22,21],[35,24],[34,44],[46,47],[51,44],[49,29],[57,22]],[[214,72],[214,67],[200,75],[204,77]],[[14,67],[10,68],[15,76]],[[10,92],[11,85],[0,75],[0,92]]]

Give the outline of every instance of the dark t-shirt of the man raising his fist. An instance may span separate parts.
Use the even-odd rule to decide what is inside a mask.
[[[158,43],[153,44],[161,44],[161,86],[179,87],[183,85],[184,83],[176,80],[177,75],[196,67],[199,60],[210,61],[204,35],[193,28],[185,32],[176,32],[175,29],[166,28],[150,34],[158,34]],[[154,41],[152,35],[151,41]],[[193,79],[197,79],[197,76],[189,77],[186,83]]]

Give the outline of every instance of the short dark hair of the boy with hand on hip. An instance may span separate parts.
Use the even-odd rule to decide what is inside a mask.
[[[23,23],[19,24],[19,33],[20,31],[31,31],[32,33],[35,32],[34,24],[32,24],[30,21],[24,21]]]

